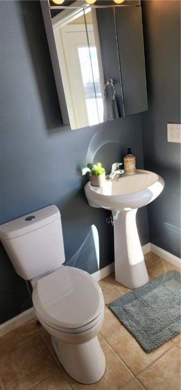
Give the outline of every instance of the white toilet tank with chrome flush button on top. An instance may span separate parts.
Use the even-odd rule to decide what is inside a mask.
[[[52,205],[0,225],[0,240],[17,272],[37,278],[65,262],[59,209]]]

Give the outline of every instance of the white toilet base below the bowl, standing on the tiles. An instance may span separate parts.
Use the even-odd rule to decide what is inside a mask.
[[[60,363],[73,379],[92,384],[104,375],[106,359],[97,336],[83,344],[63,343],[52,336],[52,343]]]

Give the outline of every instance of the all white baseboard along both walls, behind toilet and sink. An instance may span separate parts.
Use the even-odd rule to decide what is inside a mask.
[[[166,250],[159,248],[158,246],[148,243],[142,246],[143,254],[147,254],[149,252],[153,252],[157,254],[157,256],[163,258],[168,263],[173,264],[174,266],[181,268],[180,258],[174,256],[173,254],[167,252]],[[92,276],[97,282],[99,280],[106,278],[114,272],[114,263],[109,264],[108,266],[102,268],[101,270],[94,272]],[[7,333],[13,331],[14,329],[20,327],[25,322],[29,321],[35,316],[34,309],[31,307],[30,309],[24,311],[23,313],[17,315],[14,318],[11,318],[9,321],[6,321],[0,324],[0,337],[6,335]]]

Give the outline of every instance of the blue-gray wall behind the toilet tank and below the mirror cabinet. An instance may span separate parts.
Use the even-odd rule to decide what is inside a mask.
[[[95,159],[109,170],[113,161],[122,160],[127,147],[137,156],[137,167],[143,168],[141,115],[75,131],[63,127],[39,2],[1,1],[0,9],[0,223],[57,205],[66,262],[93,273],[98,265],[91,226],[98,229],[100,268],[114,261],[113,229],[105,223],[106,210],[87,205],[81,168],[87,151],[91,159],[98,149]],[[138,213],[138,228],[144,245],[149,242],[146,208]],[[25,282],[2,246],[0,300],[0,322],[32,305]]]

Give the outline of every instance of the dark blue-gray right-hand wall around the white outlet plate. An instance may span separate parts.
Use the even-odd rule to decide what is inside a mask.
[[[180,257],[180,144],[167,122],[180,123],[180,2],[143,1],[149,110],[142,116],[145,168],[165,180],[148,206],[150,241]]]

